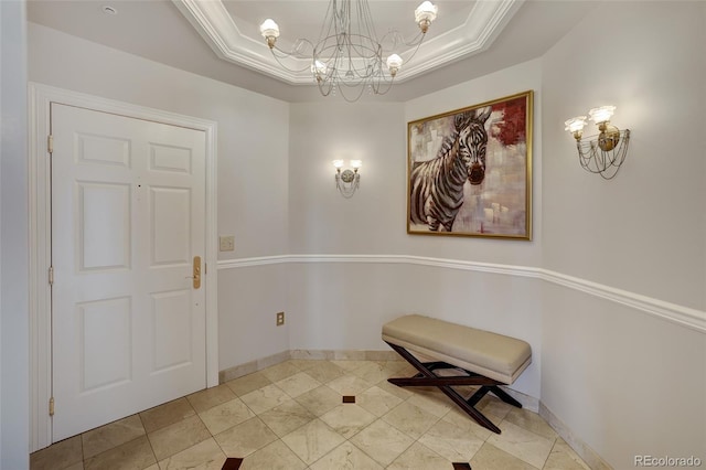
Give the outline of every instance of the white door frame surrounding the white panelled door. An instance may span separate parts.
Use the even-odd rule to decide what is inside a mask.
[[[51,266],[51,167],[47,151],[50,104],[94,109],[186,127],[205,132],[205,253],[206,273],[206,387],[218,385],[217,310],[217,152],[215,121],[179,115],[129,103],[30,82],[29,92],[29,221],[30,221],[30,451],[52,444],[52,296]],[[210,269],[208,269],[210,267]]]

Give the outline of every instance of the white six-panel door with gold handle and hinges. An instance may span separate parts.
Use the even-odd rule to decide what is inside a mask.
[[[58,441],[206,386],[205,135],[55,103],[51,128]]]

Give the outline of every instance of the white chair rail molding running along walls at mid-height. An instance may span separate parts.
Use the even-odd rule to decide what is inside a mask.
[[[218,261],[218,269],[236,269],[252,266],[267,266],[291,263],[368,263],[404,264],[442,267],[475,273],[500,274],[515,277],[537,278],[557,286],[574,289],[593,297],[620,303],[672,323],[706,333],[706,311],[665,302],[652,297],[568,276],[549,269],[530,266],[501,265],[494,263],[464,261],[458,259],[431,258],[405,255],[280,255]]]

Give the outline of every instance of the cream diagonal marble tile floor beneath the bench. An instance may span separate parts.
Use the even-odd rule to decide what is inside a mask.
[[[436,388],[386,382],[413,373],[403,361],[287,361],[57,442],[31,469],[221,470],[228,457],[242,470],[588,469],[535,413],[485,396],[495,435]]]

